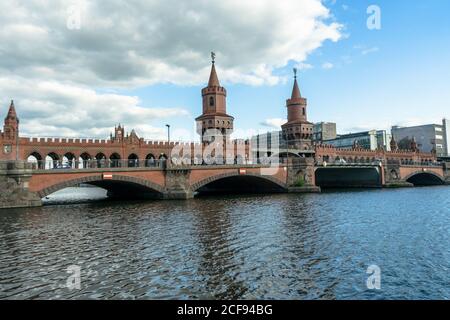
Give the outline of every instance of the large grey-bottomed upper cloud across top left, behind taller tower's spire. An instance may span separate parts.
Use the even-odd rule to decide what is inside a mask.
[[[0,70],[92,85],[200,84],[217,52],[228,82],[275,84],[275,68],[340,39],[320,0],[0,2]]]

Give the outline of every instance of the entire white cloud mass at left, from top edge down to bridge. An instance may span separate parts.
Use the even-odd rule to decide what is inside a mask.
[[[118,122],[164,137],[151,120],[187,114],[104,92],[205,83],[211,50],[223,82],[274,85],[342,28],[320,0],[3,0],[0,21],[0,99],[17,100],[21,131],[101,138]]]

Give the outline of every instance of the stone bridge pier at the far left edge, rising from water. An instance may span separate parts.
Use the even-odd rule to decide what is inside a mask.
[[[41,198],[28,190],[31,166],[25,162],[0,162],[0,209],[42,205]]]

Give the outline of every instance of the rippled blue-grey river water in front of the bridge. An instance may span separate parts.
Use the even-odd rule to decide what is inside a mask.
[[[449,187],[73,204],[103,196],[0,211],[0,299],[450,299]]]

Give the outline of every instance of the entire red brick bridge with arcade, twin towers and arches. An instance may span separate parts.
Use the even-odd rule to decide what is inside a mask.
[[[48,195],[80,184],[118,198],[189,199],[206,193],[450,183],[450,166],[438,162],[435,152],[420,152],[414,140],[410,150],[399,150],[392,138],[391,151],[314,144],[297,76],[286,102],[282,147],[231,140],[234,118],[227,114],[226,97],[213,57],[202,114],[196,118],[199,143],[147,141],[134,130],[126,134],[120,125],[106,140],[20,137],[11,102],[0,131],[0,208],[41,206]]]

